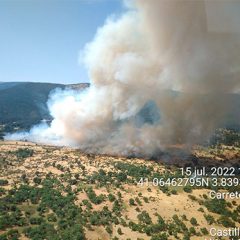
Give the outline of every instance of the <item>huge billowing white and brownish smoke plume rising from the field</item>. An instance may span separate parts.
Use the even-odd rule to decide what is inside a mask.
[[[231,104],[224,96],[240,86],[239,32],[209,29],[218,13],[207,15],[203,0],[128,6],[84,49],[91,87],[53,94],[50,127],[34,127],[25,138],[151,156],[168,144],[204,140],[224,121]],[[144,116],[149,103],[160,113]]]

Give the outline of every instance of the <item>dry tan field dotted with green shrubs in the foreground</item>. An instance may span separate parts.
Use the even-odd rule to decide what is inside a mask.
[[[196,148],[193,154],[204,164],[214,158],[227,166],[240,149]],[[211,227],[239,227],[240,199],[210,199],[209,187],[153,184],[181,177],[180,167],[3,141],[0,239],[187,240],[205,239]]]

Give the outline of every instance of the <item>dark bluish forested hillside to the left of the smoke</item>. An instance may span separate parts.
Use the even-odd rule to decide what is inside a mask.
[[[49,119],[47,99],[61,84],[50,83],[0,83],[0,124],[4,131],[29,128],[42,119]]]

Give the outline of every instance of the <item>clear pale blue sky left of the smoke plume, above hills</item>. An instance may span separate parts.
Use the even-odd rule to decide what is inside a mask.
[[[0,0],[0,82],[86,82],[80,50],[120,0]]]

